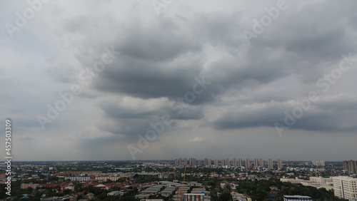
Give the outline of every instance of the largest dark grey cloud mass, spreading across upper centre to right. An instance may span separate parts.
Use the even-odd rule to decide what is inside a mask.
[[[150,26],[137,20],[116,38],[114,44],[123,56],[99,77],[94,88],[141,98],[176,98],[191,88],[194,77],[201,72],[213,85],[196,104],[212,100],[212,95],[223,94],[228,88],[252,83],[257,87],[292,73],[316,81],[314,75],[321,72],[316,64],[331,59],[337,62],[341,53],[351,51],[351,45],[341,26],[320,28],[316,21],[305,22],[305,15],[293,14],[277,19],[276,24],[252,39],[251,48],[246,48],[241,38],[246,27],[241,26],[239,13],[196,14],[190,21],[163,17]],[[203,69],[206,44],[233,55]]]

